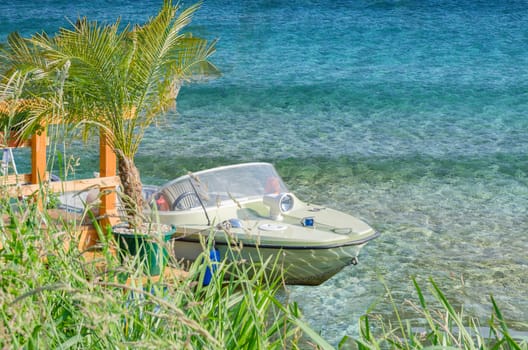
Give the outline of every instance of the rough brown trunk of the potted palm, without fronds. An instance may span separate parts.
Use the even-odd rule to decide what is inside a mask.
[[[132,227],[137,228],[143,222],[143,195],[139,170],[134,163],[133,158],[126,157],[123,154],[117,155],[119,178],[123,185],[123,204],[129,223]]]

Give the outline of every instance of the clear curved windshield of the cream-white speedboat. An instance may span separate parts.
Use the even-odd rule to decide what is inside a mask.
[[[206,207],[224,200],[260,198],[288,192],[275,168],[268,163],[231,165],[182,176],[161,188],[172,210]]]

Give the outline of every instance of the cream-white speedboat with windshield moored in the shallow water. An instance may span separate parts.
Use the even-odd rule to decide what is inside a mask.
[[[190,173],[145,186],[144,195],[151,203],[146,214],[176,227],[176,259],[203,256],[212,238],[222,258],[277,259],[287,284],[323,283],[357,264],[360,249],[379,235],[351,215],[301,201],[268,163]],[[230,249],[233,242],[242,248]]]

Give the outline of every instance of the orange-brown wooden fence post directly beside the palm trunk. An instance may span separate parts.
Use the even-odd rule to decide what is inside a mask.
[[[99,133],[99,175],[101,177],[116,176],[116,155],[110,147],[108,136],[103,129]],[[112,225],[115,221],[112,216],[116,214],[116,192],[115,187],[102,187],[101,192],[108,191],[108,194],[101,196],[101,207],[99,209],[99,216],[103,217],[102,224],[104,226]]]

